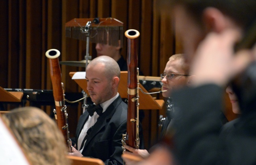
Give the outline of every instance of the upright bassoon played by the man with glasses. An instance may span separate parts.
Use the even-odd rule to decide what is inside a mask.
[[[139,148],[139,69],[137,68],[136,38],[139,37],[137,30],[127,30],[124,35],[127,37],[127,132],[123,135],[123,144],[133,148]],[[123,148],[124,149],[124,148]]]

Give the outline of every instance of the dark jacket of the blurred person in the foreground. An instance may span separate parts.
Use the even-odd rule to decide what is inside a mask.
[[[255,107],[254,111],[243,113],[234,129],[221,138],[222,96],[223,88],[213,84],[173,93],[174,153],[181,165],[256,164]]]

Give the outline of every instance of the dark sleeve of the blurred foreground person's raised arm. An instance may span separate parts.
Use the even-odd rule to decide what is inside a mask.
[[[224,163],[219,140],[222,96],[223,89],[211,84],[173,93],[174,150],[182,165]]]

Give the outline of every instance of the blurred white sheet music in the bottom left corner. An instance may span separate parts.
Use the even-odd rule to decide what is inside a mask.
[[[0,117],[0,160],[2,165],[29,165],[13,135]]]

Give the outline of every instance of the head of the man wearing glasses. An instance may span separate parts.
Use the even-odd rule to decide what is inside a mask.
[[[165,66],[163,74],[165,74],[165,76],[162,79],[162,90],[167,90],[167,92],[163,92],[162,95],[169,97],[173,89],[178,89],[186,85],[189,81],[189,76],[182,76],[189,74],[189,67],[184,63],[184,55],[174,54],[171,56]],[[171,76],[171,74],[181,75]]]

